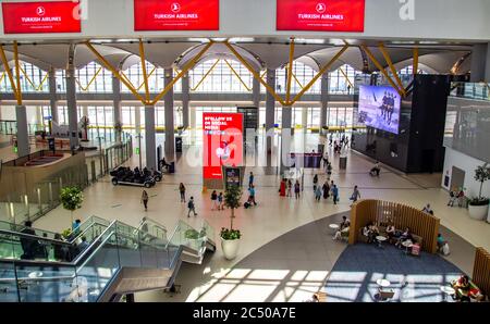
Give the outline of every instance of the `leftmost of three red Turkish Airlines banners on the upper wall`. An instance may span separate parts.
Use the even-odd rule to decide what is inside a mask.
[[[4,34],[81,33],[78,1],[3,2]]]

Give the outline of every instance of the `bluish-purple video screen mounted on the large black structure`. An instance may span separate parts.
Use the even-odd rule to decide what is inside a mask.
[[[359,86],[358,122],[399,134],[402,98],[392,87]]]

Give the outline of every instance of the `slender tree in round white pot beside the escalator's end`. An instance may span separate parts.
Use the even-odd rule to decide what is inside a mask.
[[[233,219],[235,217],[235,209],[241,205],[242,188],[238,186],[229,186],[224,191],[224,205],[231,210],[230,228],[221,228],[221,249],[223,250],[224,258],[233,260],[236,258],[240,248],[240,239],[242,233],[240,229],[233,229]]]

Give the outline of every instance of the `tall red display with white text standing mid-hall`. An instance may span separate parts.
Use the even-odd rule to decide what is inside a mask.
[[[203,175],[205,179],[222,179],[222,165],[243,164],[243,114],[203,113]]]

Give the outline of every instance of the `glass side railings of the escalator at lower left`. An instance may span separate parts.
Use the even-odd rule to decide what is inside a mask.
[[[69,242],[0,230],[0,302],[95,302],[122,267],[173,269],[181,245],[199,251],[205,233],[213,232],[207,223],[196,232],[179,222],[167,240],[118,221],[107,226],[98,221],[107,224],[96,216],[85,222],[85,236],[90,228],[101,232],[89,244],[74,245],[78,250],[71,259],[64,258],[73,248]],[[163,227],[144,224],[150,222]]]

